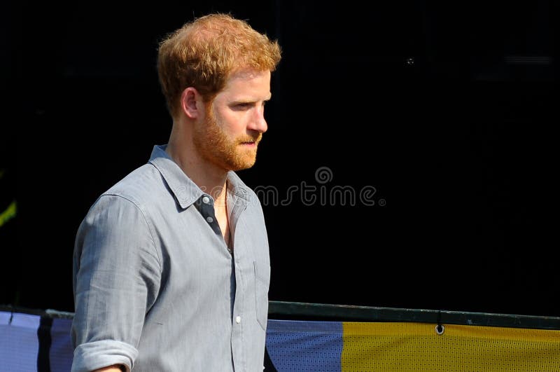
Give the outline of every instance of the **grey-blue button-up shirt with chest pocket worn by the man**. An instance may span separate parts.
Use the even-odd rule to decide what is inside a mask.
[[[74,248],[72,371],[262,371],[265,220],[235,172],[227,200],[233,255],[214,200],[165,146],[94,202]]]

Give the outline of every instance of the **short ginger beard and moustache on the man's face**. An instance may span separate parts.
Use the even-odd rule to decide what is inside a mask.
[[[230,138],[216,122],[211,105],[207,106],[207,116],[195,125],[193,144],[202,158],[225,170],[244,170],[255,164],[257,148],[262,133]],[[254,146],[244,143],[255,142]]]

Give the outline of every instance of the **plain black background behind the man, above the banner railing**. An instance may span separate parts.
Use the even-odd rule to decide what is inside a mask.
[[[239,172],[279,196],[262,200],[271,300],[560,316],[552,1],[113,3],[3,6],[1,181],[19,209],[0,303],[73,311],[81,219],[167,142],[158,41],[223,11],[283,48]],[[374,187],[375,205],[280,203],[302,185]]]

